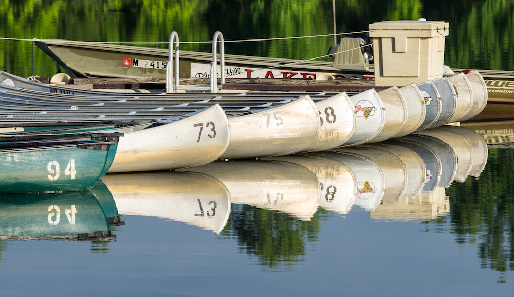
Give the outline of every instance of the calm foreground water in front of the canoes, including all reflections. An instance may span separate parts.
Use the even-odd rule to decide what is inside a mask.
[[[513,132],[477,131],[4,197],[3,238],[115,236],[2,240],[3,294],[509,294]]]

